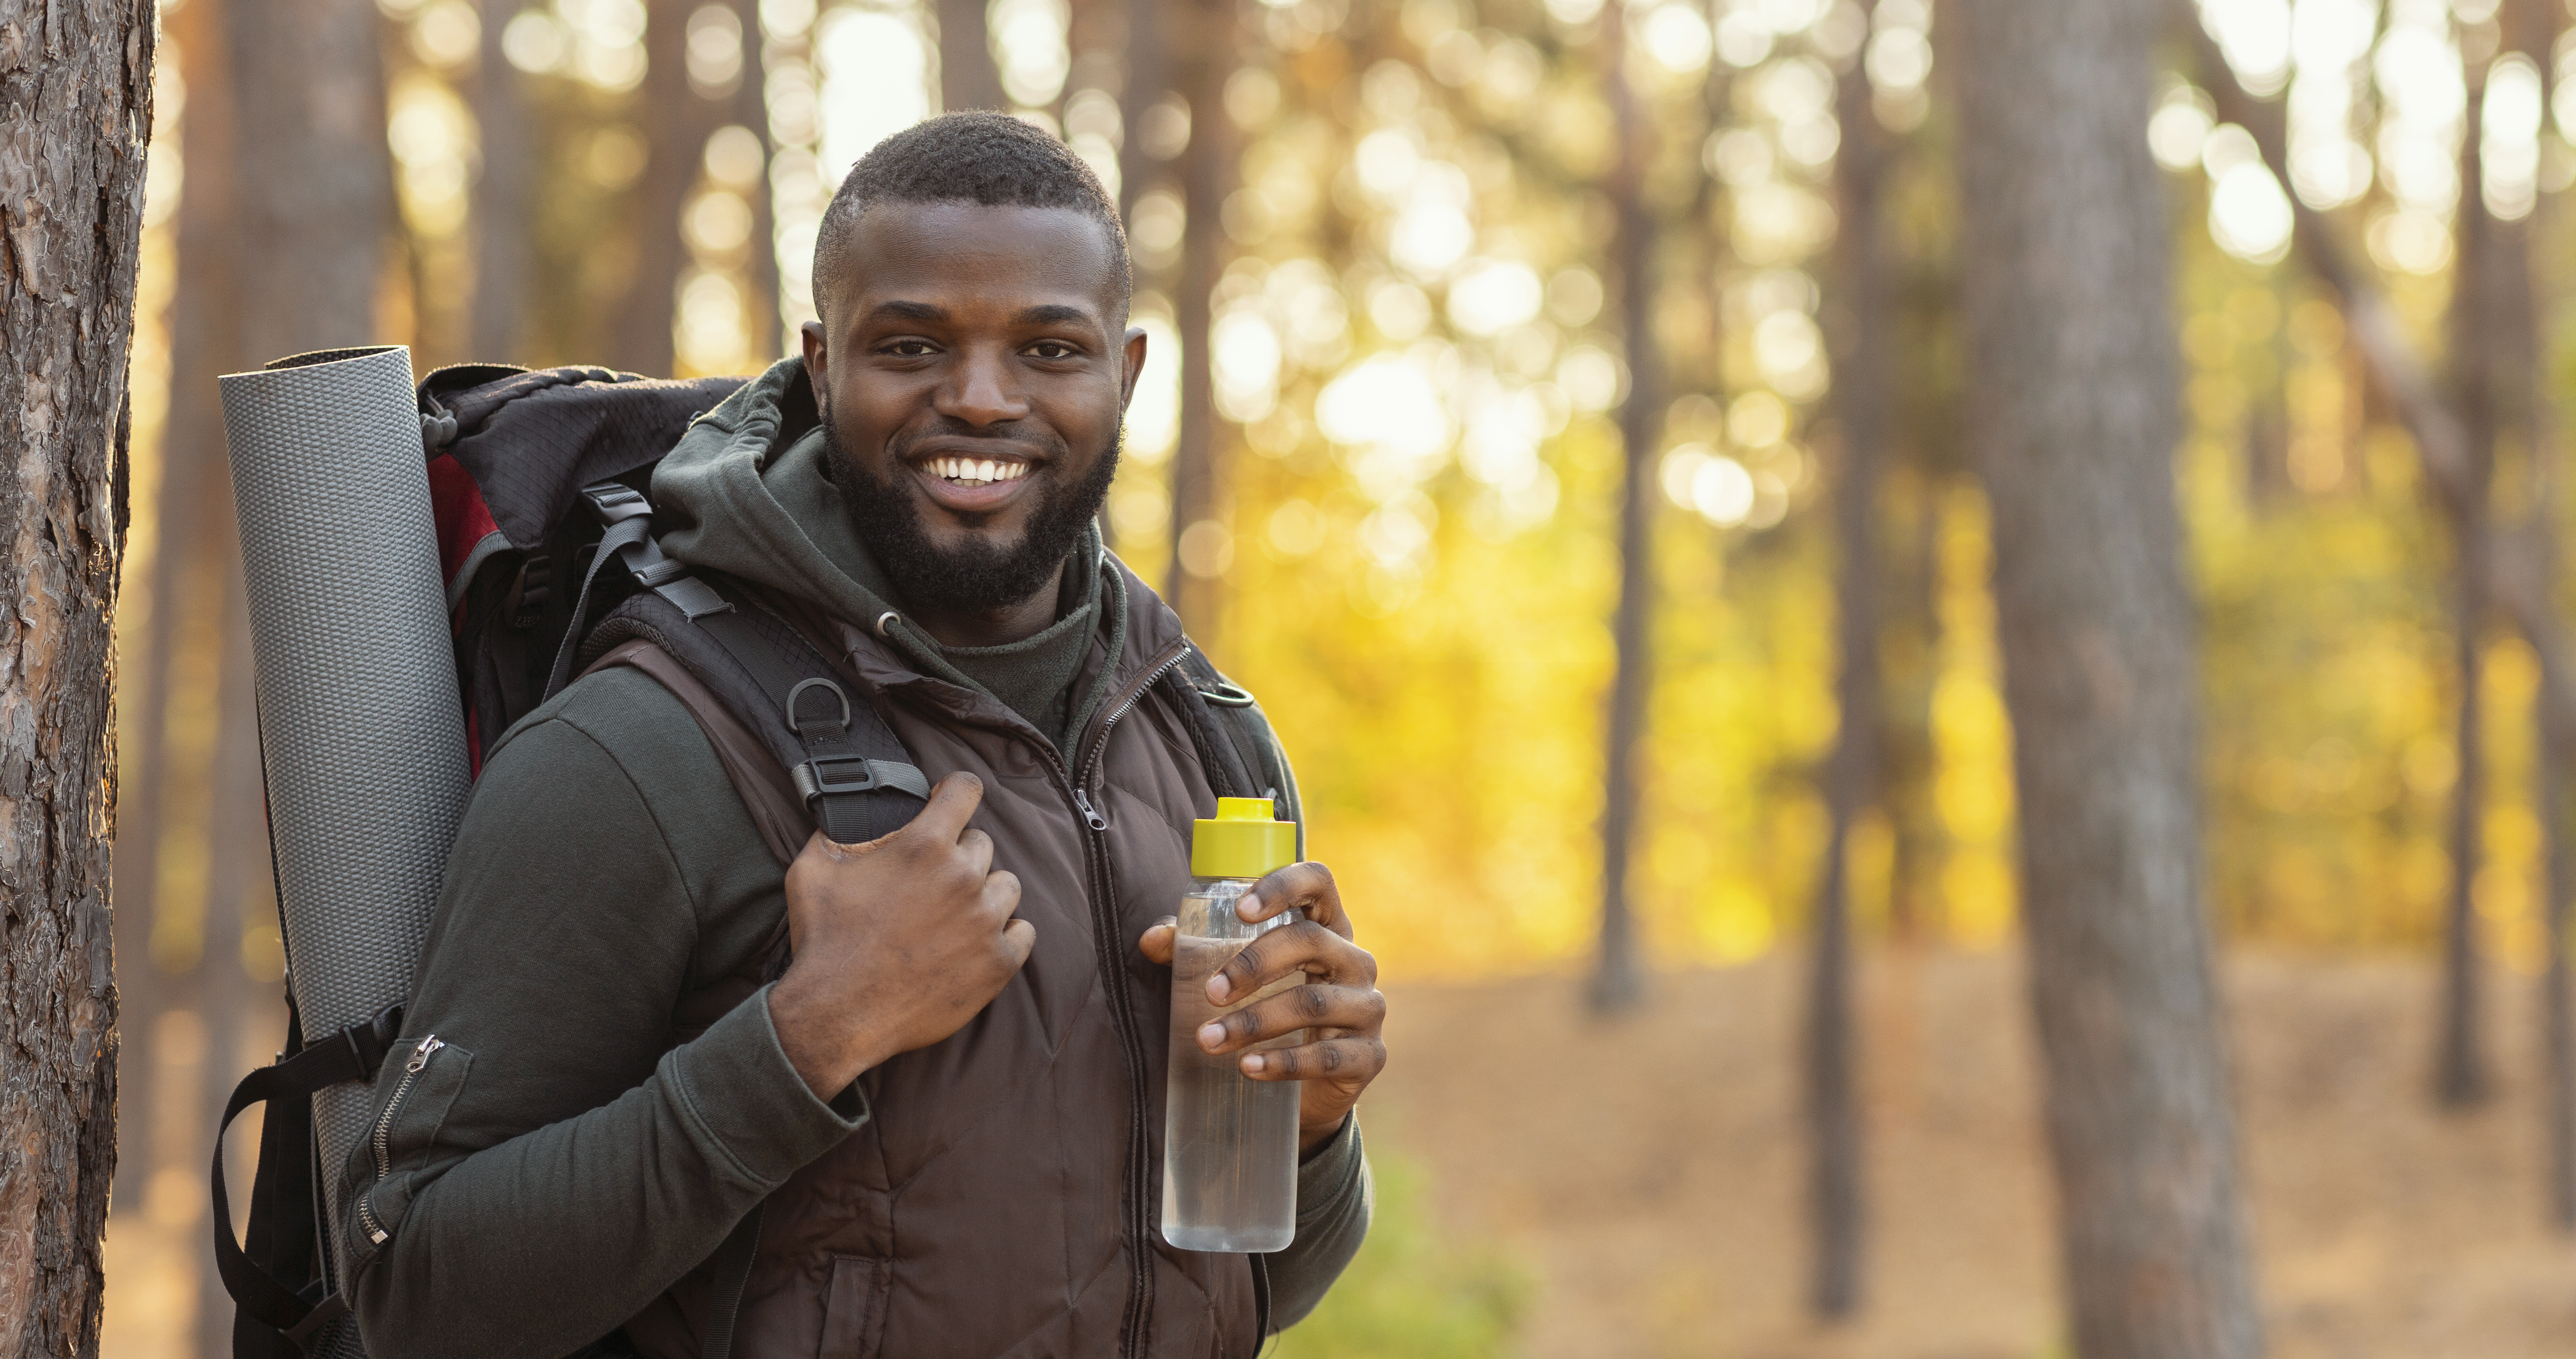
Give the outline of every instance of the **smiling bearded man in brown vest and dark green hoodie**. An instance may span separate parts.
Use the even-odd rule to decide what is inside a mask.
[[[781,872],[652,678],[520,722],[343,1178],[374,1359],[698,1359],[755,1207],[744,1359],[1252,1359],[1368,1230],[1383,1001],[1296,864],[1244,913],[1303,923],[1208,990],[1309,980],[1193,1037],[1301,1080],[1296,1243],[1154,1233],[1170,910],[1213,792],[1151,683],[1180,624],[1092,529],[1146,361],[1110,199],[1025,124],[933,119],[858,162],[814,255],[801,361],[657,469],[662,547],[829,619],[930,805]]]

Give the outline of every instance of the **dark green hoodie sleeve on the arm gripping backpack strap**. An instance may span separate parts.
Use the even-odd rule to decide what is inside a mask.
[[[701,934],[760,918],[706,900],[757,879],[690,877],[683,861],[765,866],[768,892],[775,866],[765,851],[672,851],[675,836],[734,830],[706,817],[757,836],[677,704],[677,732],[641,756],[585,730],[580,709],[531,719],[484,768],[404,1039],[376,1078],[376,1135],[343,1171],[335,1227],[376,1359],[577,1351],[866,1119],[855,1091],[835,1109],[796,1075],[765,988],[670,1042]],[[688,740],[701,750],[670,750]],[[672,784],[629,766],[685,756],[724,797],[649,802],[639,784]]]

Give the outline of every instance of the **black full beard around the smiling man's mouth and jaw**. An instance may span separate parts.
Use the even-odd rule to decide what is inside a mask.
[[[886,578],[904,596],[902,603],[912,609],[989,614],[1036,596],[1072,557],[1118,474],[1118,433],[1110,433],[1110,446],[1079,482],[1061,485],[1038,500],[1020,542],[1002,547],[969,536],[953,549],[940,549],[922,529],[922,513],[912,495],[881,482],[848,456],[829,418],[822,423],[822,438],[832,459],[832,482],[840,485],[860,542],[876,554],[876,565],[886,567]]]

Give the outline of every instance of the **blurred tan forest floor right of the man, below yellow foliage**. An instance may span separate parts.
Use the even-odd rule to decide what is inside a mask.
[[[1803,1318],[1803,959],[1579,983],[1391,985],[1370,1153],[1461,1243],[1535,1279],[1530,1359],[2063,1354],[2020,962],[1865,967],[1868,1310]],[[2427,1096],[2434,970],[2239,952],[2226,967],[2272,1359],[2576,1354],[2576,1238],[2548,1230],[2535,983],[2494,975],[2496,1099]]]

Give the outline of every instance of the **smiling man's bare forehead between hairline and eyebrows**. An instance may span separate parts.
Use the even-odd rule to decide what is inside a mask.
[[[840,294],[853,320],[878,302],[1020,312],[1059,302],[1118,312],[1118,242],[1074,209],[876,204],[845,237]]]

